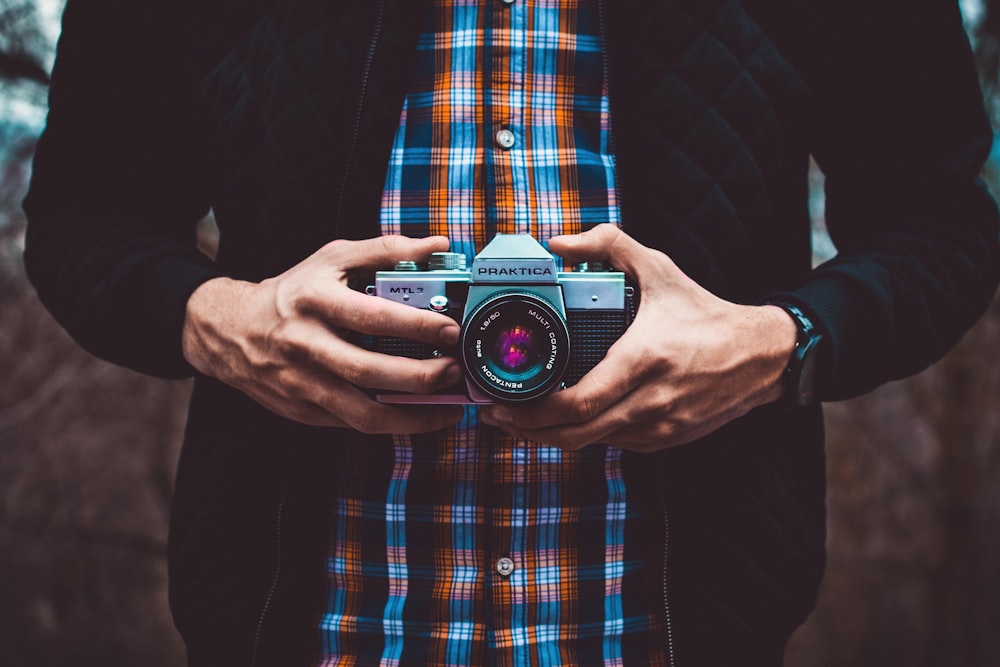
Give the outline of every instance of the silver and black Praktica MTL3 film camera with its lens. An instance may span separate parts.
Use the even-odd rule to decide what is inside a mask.
[[[575,384],[604,358],[632,321],[635,295],[618,271],[556,271],[528,234],[498,234],[465,268],[465,256],[436,253],[426,270],[400,262],[379,271],[369,294],[444,313],[461,325],[457,349],[374,337],[372,349],[426,359],[455,356],[463,386],[431,395],[384,393],[384,403],[526,401]]]

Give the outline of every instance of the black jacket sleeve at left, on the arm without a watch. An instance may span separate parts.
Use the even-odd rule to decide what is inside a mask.
[[[178,3],[68,0],[36,150],[25,264],[94,354],[180,377],[187,299],[219,275],[195,247],[208,149],[185,81]]]

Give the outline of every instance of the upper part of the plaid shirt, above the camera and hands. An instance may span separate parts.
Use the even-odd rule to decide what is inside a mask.
[[[443,234],[471,259],[497,232],[544,244],[619,222],[591,4],[434,3],[389,163],[383,233]]]

